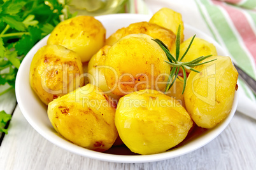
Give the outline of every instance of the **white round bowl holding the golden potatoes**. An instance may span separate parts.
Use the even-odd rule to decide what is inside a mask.
[[[100,20],[104,27],[107,30],[106,36],[110,36],[113,32],[121,27],[127,27],[129,24],[134,22],[148,21],[150,16],[148,15],[134,15],[134,14],[118,14],[118,15],[104,15],[97,16],[98,20]],[[211,37],[207,36],[200,30],[194,29],[193,27],[185,24],[185,39],[188,37],[197,35],[197,37],[201,37],[206,41],[213,43],[218,51],[218,55],[227,56],[224,49],[214,41]],[[65,140],[60,136],[55,129],[53,129],[52,124],[50,123],[47,113],[46,106],[39,100],[36,94],[32,91],[31,86],[29,84],[29,69],[31,65],[31,60],[38,51],[39,48],[46,45],[46,41],[48,36],[39,41],[25,56],[22,64],[20,65],[20,69],[18,69],[17,79],[16,79],[16,96],[18,105],[25,119],[31,124],[31,126],[38,131],[43,137],[45,137],[48,141],[54,143],[55,145],[69,150],[78,155],[82,155],[85,157],[90,157],[93,159],[106,160],[110,162],[153,162],[157,160],[171,159],[173,157],[178,157],[180,155],[187,154],[188,152],[192,152],[197,148],[203,147],[211,140],[216,138],[218,134],[220,134],[231,121],[234,112],[236,111],[236,106],[238,105],[238,92],[236,92],[234,97],[234,102],[232,105],[232,110],[229,116],[218,126],[213,129],[202,129],[196,128],[192,131],[187,138],[181,142],[177,147],[168,150],[167,152],[161,154],[153,154],[153,155],[136,155],[132,154],[126,147],[113,147],[108,150],[107,153],[96,152],[92,150],[88,150],[86,148],[79,147],[68,140]],[[212,148],[214,149],[214,148]]]

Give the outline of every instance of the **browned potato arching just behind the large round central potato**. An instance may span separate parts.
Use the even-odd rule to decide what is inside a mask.
[[[160,27],[155,23],[138,22],[132,23],[129,27],[117,30],[117,32],[112,34],[106,42],[108,42],[108,45],[112,46],[120,38],[130,34],[146,34],[153,37],[153,39],[160,39],[169,49],[174,46],[176,38],[171,30]]]

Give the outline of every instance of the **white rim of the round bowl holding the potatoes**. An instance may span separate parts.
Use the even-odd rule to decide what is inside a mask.
[[[138,14],[112,14],[112,15],[103,15],[103,16],[96,16],[97,20],[111,20],[113,19],[132,19],[132,18],[141,18],[141,20],[149,20],[150,15],[138,15]],[[225,49],[223,49],[213,38],[210,36],[206,35],[204,32],[201,30],[198,30],[190,25],[187,25],[184,23],[185,29],[191,29],[195,32],[199,32],[201,35],[208,37],[210,39],[211,43],[215,44],[216,48],[221,49],[225,55],[227,55],[227,52]],[[49,36],[49,35],[48,35]],[[225,120],[218,124],[218,128],[213,128],[209,133],[204,134],[204,136],[201,138],[199,142],[197,142],[192,147],[188,148],[181,148],[181,149],[173,149],[169,150],[167,152],[162,152],[160,154],[152,154],[152,155],[115,155],[115,154],[106,154],[102,152],[96,152],[93,150],[89,150],[86,148],[79,147],[78,145],[75,145],[67,140],[64,140],[64,138],[61,138],[60,136],[57,136],[56,133],[49,133],[48,131],[42,131],[40,126],[36,124],[36,122],[33,121],[32,117],[29,115],[29,108],[26,108],[24,105],[24,96],[21,95],[22,88],[20,88],[20,82],[22,82],[22,74],[24,74],[22,71],[25,69],[27,66],[27,63],[29,63],[29,60],[31,59],[31,54],[36,48],[39,48],[41,46],[41,43],[43,41],[46,41],[48,39],[48,36],[44,37],[39,41],[30,51],[27,53],[25,56],[23,62],[20,65],[20,69],[18,69],[17,73],[17,80],[15,82],[15,93],[17,97],[17,102],[18,106],[20,107],[20,110],[22,114],[24,115],[25,119],[31,124],[32,128],[34,128],[41,136],[46,138],[46,140],[50,141],[54,145],[57,145],[60,148],[64,148],[65,150],[68,150],[69,152],[73,152],[74,154],[82,155],[85,157],[89,157],[92,159],[97,159],[97,160],[104,160],[108,162],[122,162],[122,163],[141,163],[141,162],[155,162],[159,160],[165,160],[165,159],[171,159],[174,157],[179,157],[180,155],[185,155],[188,154],[189,152],[192,152],[194,150],[197,150],[198,148],[203,147],[213,139],[215,139],[222,131],[227,127],[229,122],[231,121],[234,113],[236,112],[236,107],[238,105],[238,95],[239,91],[236,91],[235,96],[234,96],[234,101],[232,104],[232,110],[230,114],[225,118]],[[30,56],[30,57],[29,57]],[[30,63],[29,63],[30,67]],[[60,142],[61,141],[61,142]]]

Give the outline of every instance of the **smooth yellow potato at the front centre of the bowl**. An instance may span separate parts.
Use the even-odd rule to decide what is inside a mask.
[[[192,124],[178,101],[154,90],[123,96],[115,115],[115,125],[124,144],[142,155],[158,154],[178,145]]]

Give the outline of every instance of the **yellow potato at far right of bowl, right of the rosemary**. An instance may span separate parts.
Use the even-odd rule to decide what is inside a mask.
[[[202,128],[213,128],[231,112],[238,72],[228,56],[211,56],[190,72],[184,92],[188,114]]]

